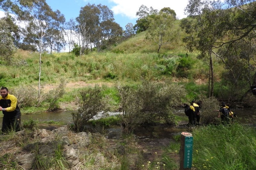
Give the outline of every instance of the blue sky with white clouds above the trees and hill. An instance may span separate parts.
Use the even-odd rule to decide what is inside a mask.
[[[164,7],[170,7],[176,12],[179,19],[185,18],[184,9],[188,4],[188,0],[46,0],[53,11],[57,9],[64,14],[66,21],[79,16],[81,7],[88,3],[102,4],[108,6],[114,13],[115,22],[117,22],[125,30],[128,23],[136,24],[136,12],[139,11],[141,5],[148,8],[161,10]]]

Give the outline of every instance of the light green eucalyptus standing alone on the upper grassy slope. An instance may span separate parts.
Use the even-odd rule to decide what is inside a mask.
[[[149,26],[146,40],[152,40],[158,45],[157,53],[164,44],[171,43],[178,37],[179,31],[172,29],[176,19],[173,14],[160,11],[148,17]]]

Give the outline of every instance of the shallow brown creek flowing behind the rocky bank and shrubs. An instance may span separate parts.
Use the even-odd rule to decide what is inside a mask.
[[[234,113],[236,113],[237,117],[236,120],[241,123],[248,123],[255,126],[256,121],[256,110],[253,108],[243,108],[243,109],[232,109]],[[184,108],[178,107],[175,108],[173,111],[175,115],[185,116],[184,114]],[[118,115],[121,114],[121,112],[109,112],[108,115]],[[216,117],[218,116],[218,112],[216,112]],[[95,116],[95,119],[99,119],[102,117],[101,114]],[[26,114],[21,115],[21,124],[24,121],[28,120],[37,120],[40,122],[48,122],[48,121],[59,121],[64,123],[73,123],[71,111],[62,111],[62,112],[43,112],[39,114]],[[0,118],[0,127],[2,128],[2,120],[3,118]],[[108,138],[113,137],[119,137],[122,132],[120,126],[109,126],[109,127],[102,127],[102,126],[87,126],[90,132],[95,133],[105,133],[108,134]],[[165,137],[171,137],[175,134],[178,134],[182,131],[186,131],[187,128],[184,126],[168,126],[168,125],[159,125],[159,126],[153,126],[153,127],[142,127],[139,131],[135,131],[135,134],[137,136],[144,136],[144,137],[159,137],[159,138],[165,138]]]

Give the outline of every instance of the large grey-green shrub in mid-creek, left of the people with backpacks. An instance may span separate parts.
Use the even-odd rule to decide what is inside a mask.
[[[175,124],[172,107],[181,104],[186,90],[183,85],[143,81],[136,88],[118,87],[123,108],[121,125],[130,133],[143,124],[165,122]]]

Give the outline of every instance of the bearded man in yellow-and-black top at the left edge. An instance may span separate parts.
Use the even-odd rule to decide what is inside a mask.
[[[3,111],[2,132],[20,131],[20,108],[18,100],[14,95],[9,94],[6,87],[0,89],[0,111]]]

